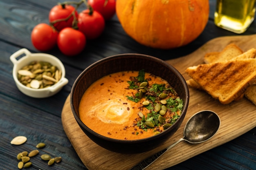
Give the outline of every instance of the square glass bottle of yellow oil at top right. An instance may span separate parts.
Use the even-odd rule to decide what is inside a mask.
[[[254,20],[255,0],[217,0],[214,23],[235,33],[245,32]]]

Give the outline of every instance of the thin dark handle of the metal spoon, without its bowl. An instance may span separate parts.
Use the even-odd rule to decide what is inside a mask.
[[[143,161],[141,161],[140,163],[138,163],[137,165],[132,167],[130,170],[144,170],[144,169],[146,169],[153,162],[155,162],[159,157],[161,157],[167,150],[173,148],[173,146],[175,146],[176,144],[178,144],[180,141],[183,141],[183,140],[184,140],[184,138],[179,139],[178,141],[176,141],[171,146],[168,146],[167,148],[165,148],[165,149],[155,153],[154,155],[144,159]]]

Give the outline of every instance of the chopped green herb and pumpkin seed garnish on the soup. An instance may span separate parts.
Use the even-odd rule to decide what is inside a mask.
[[[137,126],[139,126],[139,128],[147,131],[148,128],[153,128],[155,130],[157,130],[157,127],[162,126],[165,123],[168,124],[174,124],[175,121],[177,121],[177,119],[180,117],[180,115],[178,115],[178,112],[182,111],[182,107],[183,107],[183,101],[182,99],[177,97],[177,93],[175,92],[175,90],[170,87],[170,85],[168,84],[153,84],[153,85],[147,85],[145,87],[140,86],[142,82],[148,82],[148,80],[145,80],[145,71],[141,70],[139,71],[139,74],[137,77],[130,77],[131,81],[128,81],[129,84],[129,88],[130,89],[135,89],[137,90],[137,93],[134,96],[126,96],[129,100],[133,101],[133,102],[139,102],[140,99],[144,98],[147,101],[151,101],[150,104],[148,104],[147,106],[143,106],[146,109],[149,110],[149,113],[145,116],[143,116],[140,120],[137,120]],[[144,92],[143,95],[141,97],[141,95],[139,95],[139,91],[141,89],[141,87],[143,88]],[[167,87],[167,88],[166,88]],[[146,92],[145,92],[146,91]],[[166,100],[166,104],[162,104],[160,101],[162,100],[162,98],[159,97],[159,94],[166,94],[166,98],[164,98]],[[162,124],[159,121],[159,115],[160,115],[160,110],[155,110],[155,106],[156,105],[164,105],[166,106],[167,110],[166,113],[168,112],[168,116],[164,118],[163,121],[163,117],[162,119]],[[159,108],[159,106],[158,106]],[[163,111],[163,110],[162,110]],[[162,114],[162,112],[161,112]],[[169,115],[173,115],[172,117],[169,117]],[[148,124],[150,122],[150,124]],[[153,125],[152,125],[153,124]],[[148,125],[148,126],[147,126]],[[155,126],[155,127],[154,127]],[[159,133],[159,131],[158,131]],[[139,133],[136,132],[136,135],[138,135]]]

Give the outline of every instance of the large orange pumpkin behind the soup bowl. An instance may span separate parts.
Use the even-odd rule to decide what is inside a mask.
[[[124,31],[140,44],[173,49],[202,33],[209,0],[117,0],[116,13]]]

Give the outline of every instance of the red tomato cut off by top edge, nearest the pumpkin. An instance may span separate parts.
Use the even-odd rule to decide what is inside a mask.
[[[110,20],[116,13],[115,0],[88,0],[88,4],[101,13],[105,20]]]

